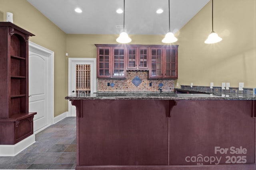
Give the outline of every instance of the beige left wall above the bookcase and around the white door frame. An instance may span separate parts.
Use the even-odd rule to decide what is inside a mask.
[[[30,41],[54,51],[54,116],[66,112],[66,34],[26,0],[0,0],[0,21],[6,21],[6,12],[13,13],[14,24],[36,35]]]

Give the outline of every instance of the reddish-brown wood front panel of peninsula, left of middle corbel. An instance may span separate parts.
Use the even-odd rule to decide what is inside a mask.
[[[166,101],[83,100],[78,165],[167,165]]]

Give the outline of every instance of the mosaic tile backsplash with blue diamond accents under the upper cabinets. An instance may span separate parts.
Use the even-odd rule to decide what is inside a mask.
[[[126,78],[98,78],[98,92],[152,91],[157,92],[162,83],[163,92],[174,92],[173,79],[148,79],[148,71],[126,71]]]

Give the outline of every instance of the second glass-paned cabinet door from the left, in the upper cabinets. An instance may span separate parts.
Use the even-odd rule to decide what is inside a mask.
[[[113,48],[114,60],[112,77],[126,76],[124,53],[124,48]]]

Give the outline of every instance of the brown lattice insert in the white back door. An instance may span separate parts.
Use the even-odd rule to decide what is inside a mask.
[[[91,65],[76,64],[76,94],[91,93]]]

